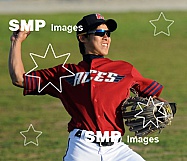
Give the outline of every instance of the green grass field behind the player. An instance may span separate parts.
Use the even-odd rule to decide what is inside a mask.
[[[86,13],[87,14],[87,13]],[[108,57],[132,63],[144,77],[152,78],[164,85],[161,97],[177,102],[177,114],[172,125],[159,135],[159,143],[143,145],[129,144],[147,161],[187,160],[187,12],[164,12],[167,19],[175,23],[170,27],[170,36],[153,36],[154,27],[149,20],[157,19],[160,12],[153,13],[103,13],[105,18],[114,18],[118,29],[112,34],[112,45]],[[49,43],[56,55],[71,53],[68,63],[77,63],[79,54],[75,32],[52,32],[50,24],[75,25],[84,14],[49,15],[0,15],[0,161],[60,161],[67,145],[67,115],[60,100],[49,96],[23,96],[22,89],[11,84],[8,73],[10,46],[9,20],[44,19],[47,25],[39,32],[32,32],[23,43],[22,55],[25,70],[34,63],[29,53],[44,55]],[[48,68],[63,59],[48,57],[37,59],[40,68]],[[42,131],[39,146],[23,145],[20,131],[33,124]],[[127,130],[126,136],[133,136]]]

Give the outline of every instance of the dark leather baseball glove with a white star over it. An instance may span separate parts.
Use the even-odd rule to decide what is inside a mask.
[[[160,133],[163,128],[171,124],[175,113],[175,103],[161,102],[152,97],[134,96],[122,103],[125,124],[137,137],[144,137],[155,131]]]

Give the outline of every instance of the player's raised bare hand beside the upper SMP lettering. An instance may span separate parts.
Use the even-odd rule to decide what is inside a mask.
[[[27,38],[27,36],[29,36],[29,34],[30,34],[30,30],[21,31],[21,26],[20,26],[19,30],[13,32],[13,34],[10,37],[10,41],[23,42]]]

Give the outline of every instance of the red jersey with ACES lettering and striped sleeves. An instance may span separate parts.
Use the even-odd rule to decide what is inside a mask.
[[[74,75],[66,77],[70,75],[66,69]],[[159,96],[163,88],[158,82],[144,78],[125,61],[94,55],[86,55],[78,65],[58,65],[29,75],[24,75],[24,95],[49,94],[59,98],[71,116],[68,131],[75,128],[120,131],[123,135],[119,105],[129,97],[130,88],[135,88],[140,96]],[[62,92],[57,90],[60,86]]]

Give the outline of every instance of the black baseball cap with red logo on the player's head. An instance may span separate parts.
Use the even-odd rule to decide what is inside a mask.
[[[101,24],[106,24],[110,32],[113,32],[117,28],[117,23],[113,19],[105,20],[104,17],[99,14],[89,14],[84,16],[78,23],[77,26],[82,26],[83,30],[77,30],[77,36],[81,33],[91,31]]]

